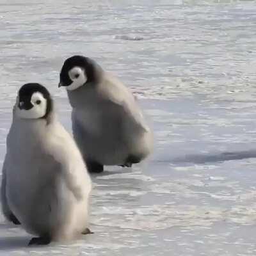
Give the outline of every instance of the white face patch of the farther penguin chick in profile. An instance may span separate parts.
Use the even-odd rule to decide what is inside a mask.
[[[73,81],[72,84],[70,84],[69,86],[66,86],[67,90],[69,91],[76,90],[87,81],[87,77],[84,72],[84,69],[81,67],[74,67],[70,69],[68,72],[68,76]]]

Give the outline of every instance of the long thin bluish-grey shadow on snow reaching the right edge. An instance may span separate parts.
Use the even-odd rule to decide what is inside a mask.
[[[243,150],[236,152],[221,152],[217,154],[204,154],[204,155],[186,155],[183,157],[177,157],[172,159],[170,162],[175,163],[195,163],[195,164],[206,164],[216,163],[232,160],[243,160],[249,158],[256,158],[256,150]]]

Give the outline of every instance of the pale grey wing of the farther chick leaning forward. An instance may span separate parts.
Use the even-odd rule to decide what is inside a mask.
[[[108,104],[108,109],[118,111],[121,116],[127,116],[135,127],[143,132],[148,132],[148,127],[138,106],[138,100],[135,99],[129,88],[116,77],[105,73],[104,83],[101,84],[100,90]]]

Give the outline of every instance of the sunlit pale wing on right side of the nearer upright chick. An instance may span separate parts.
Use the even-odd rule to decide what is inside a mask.
[[[52,131],[47,148],[49,154],[60,164],[60,172],[67,188],[77,200],[87,196],[92,186],[90,177],[76,143],[62,125],[56,125]]]

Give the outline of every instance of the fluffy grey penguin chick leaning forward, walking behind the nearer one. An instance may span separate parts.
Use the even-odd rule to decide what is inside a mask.
[[[72,56],[61,68],[72,129],[89,172],[104,165],[132,166],[150,154],[152,132],[129,89],[90,58]]]

